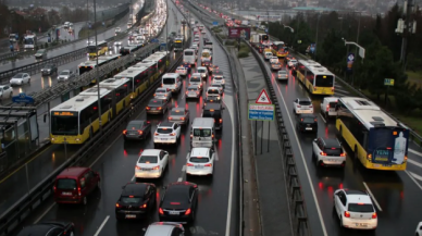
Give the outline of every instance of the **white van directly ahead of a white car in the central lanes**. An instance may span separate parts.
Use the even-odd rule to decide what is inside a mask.
[[[194,148],[213,148],[215,140],[214,119],[196,117],[190,126],[190,144]]]

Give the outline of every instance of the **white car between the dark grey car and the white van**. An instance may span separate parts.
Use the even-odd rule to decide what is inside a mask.
[[[162,122],[157,126],[153,146],[177,145],[181,137],[181,125],[175,122]]]

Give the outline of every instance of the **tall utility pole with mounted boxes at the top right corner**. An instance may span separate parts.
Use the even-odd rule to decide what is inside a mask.
[[[411,34],[417,33],[417,21],[413,20],[413,13],[415,11],[413,0],[407,0],[404,3],[404,18],[399,18],[397,22],[396,33],[402,35],[401,39],[401,52],[400,62],[402,63],[402,70],[406,71],[407,64],[407,47],[409,45],[409,38]]]

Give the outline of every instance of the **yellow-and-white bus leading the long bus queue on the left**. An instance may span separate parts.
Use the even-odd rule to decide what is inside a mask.
[[[112,91],[107,88],[89,88],[50,110],[51,144],[80,145],[98,132],[98,97],[101,104],[101,124],[112,116]]]

